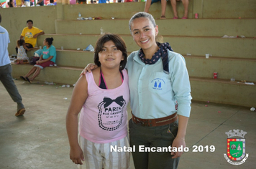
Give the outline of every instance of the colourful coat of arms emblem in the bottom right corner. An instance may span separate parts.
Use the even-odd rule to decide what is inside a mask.
[[[229,132],[225,132],[227,135],[227,154],[224,153],[224,158],[226,158],[227,162],[232,165],[241,165],[247,160],[249,154],[245,153],[245,139],[244,135],[247,132],[243,130],[229,130]],[[235,138],[235,137],[242,138]]]

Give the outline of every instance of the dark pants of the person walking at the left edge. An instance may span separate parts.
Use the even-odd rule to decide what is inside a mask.
[[[14,102],[17,102],[17,110],[24,108],[22,104],[22,97],[19,95],[19,91],[12,79],[12,66],[11,64],[6,64],[0,67],[0,80],[4,87],[6,88],[9,95],[12,97]]]

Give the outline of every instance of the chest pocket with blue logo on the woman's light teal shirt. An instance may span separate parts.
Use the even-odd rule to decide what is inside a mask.
[[[150,75],[148,90],[156,94],[163,94],[171,90],[170,78],[164,72],[154,72]]]

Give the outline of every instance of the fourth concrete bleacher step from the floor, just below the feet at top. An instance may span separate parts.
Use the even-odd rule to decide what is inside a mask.
[[[255,37],[256,19],[155,19],[161,35]],[[129,19],[55,20],[56,34],[130,34]],[[173,26],[175,25],[175,26]],[[72,32],[70,30],[73,30]]]

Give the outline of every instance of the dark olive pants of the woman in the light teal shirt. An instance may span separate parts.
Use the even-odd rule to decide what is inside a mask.
[[[168,130],[170,129],[170,132]],[[139,146],[145,148],[168,148],[178,132],[178,120],[169,125],[144,127],[129,120],[130,146],[135,145],[132,152],[134,166],[137,169],[175,169],[180,158],[173,159],[170,152],[139,152]]]

